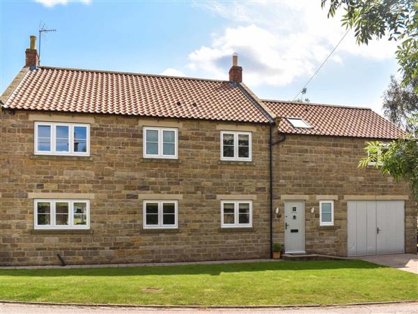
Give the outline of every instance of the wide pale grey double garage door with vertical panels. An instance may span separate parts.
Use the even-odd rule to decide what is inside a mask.
[[[403,201],[348,201],[348,256],[404,252]]]

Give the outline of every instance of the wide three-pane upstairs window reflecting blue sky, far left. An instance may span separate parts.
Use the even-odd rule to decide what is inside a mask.
[[[90,155],[90,126],[35,122],[35,154],[61,156]]]

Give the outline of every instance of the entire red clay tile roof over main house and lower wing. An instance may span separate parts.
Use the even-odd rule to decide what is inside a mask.
[[[261,105],[274,116],[301,117],[312,126],[294,128],[281,119],[284,133],[382,139],[405,134],[370,109],[258,100],[245,86],[227,81],[46,66],[29,70],[5,107],[268,123]]]

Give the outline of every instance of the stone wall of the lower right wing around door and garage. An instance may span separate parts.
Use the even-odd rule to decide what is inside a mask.
[[[279,138],[279,137],[278,137]],[[305,203],[305,247],[308,253],[347,255],[345,195],[409,195],[405,201],[405,251],[417,253],[417,204],[408,184],[373,168],[357,168],[366,139],[286,135],[274,146],[274,241],[284,243],[284,195]],[[322,196],[321,195],[328,195]],[[320,226],[319,200],[334,200],[334,226]],[[314,213],[311,209],[314,208]]]

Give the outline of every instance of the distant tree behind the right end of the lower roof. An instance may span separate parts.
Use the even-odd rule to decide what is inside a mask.
[[[385,117],[408,132],[414,128],[409,123],[410,117],[418,113],[418,94],[415,93],[417,85],[418,77],[412,81],[412,84],[403,87],[392,75],[389,87],[383,94]]]

